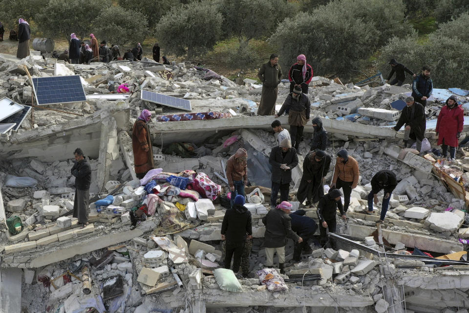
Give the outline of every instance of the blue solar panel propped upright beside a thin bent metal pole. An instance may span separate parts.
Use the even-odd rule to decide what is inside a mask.
[[[33,78],[34,94],[39,105],[86,101],[80,76]]]

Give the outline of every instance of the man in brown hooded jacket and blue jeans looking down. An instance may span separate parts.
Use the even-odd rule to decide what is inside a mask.
[[[226,163],[226,177],[231,190],[231,207],[235,204],[236,195],[245,196],[244,188],[248,184],[248,152],[239,148]]]

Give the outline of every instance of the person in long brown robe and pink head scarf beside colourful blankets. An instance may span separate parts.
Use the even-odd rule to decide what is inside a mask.
[[[153,149],[151,146],[150,129],[151,113],[145,109],[137,118],[132,128],[133,163],[137,178],[144,178],[153,169]]]

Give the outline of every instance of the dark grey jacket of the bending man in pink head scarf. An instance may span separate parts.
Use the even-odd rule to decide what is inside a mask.
[[[280,248],[287,244],[287,237],[295,242],[299,236],[292,230],[292,220],[290,216],[281,209],[271,209],[262,218],[265,225],[264,247]]]

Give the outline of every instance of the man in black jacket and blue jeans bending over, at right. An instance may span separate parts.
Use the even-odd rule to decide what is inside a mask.
[[[373,201],[375,204],[378,204],[378,192],[384,190],[380,220],[376,223],[383,223],[387,208],[389,206],[389,200],[391,200],[392,191],[394,188],[396,188],[396,186],[396,174],[387,169],[380,170],[371,179],[371,191],[368,194],[368,211],[365,211],[364,213],[373,214]]]

